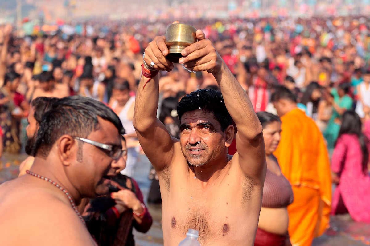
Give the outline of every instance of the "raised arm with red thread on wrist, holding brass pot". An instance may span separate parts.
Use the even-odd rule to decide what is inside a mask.
[[[144,60],[148,65],[154,62],[154,69],[170,71],[173,65],[165,59],[167,54],[165,37],[156,37],[145,49]],[[155,170],[160,171],[171,163],[176,140],[171,139],[167,129],[157,119],[158,100],[158,75],[151,79],[142,75],[136,94],[133,125],[145,155]]]

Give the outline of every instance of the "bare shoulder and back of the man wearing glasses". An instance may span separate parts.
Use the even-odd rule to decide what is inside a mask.
[[[6,197],[0,202],[2,244],[94,245],[71,206],[51,191],[20,187],[16,190],[1,195]]]

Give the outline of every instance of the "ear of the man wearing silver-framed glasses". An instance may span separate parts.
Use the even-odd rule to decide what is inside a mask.
[[[70,135],[63,135],[57,140],[57,149],[61,162],[64,166],[69,166],[75,162],[78,152],[78,143]]]

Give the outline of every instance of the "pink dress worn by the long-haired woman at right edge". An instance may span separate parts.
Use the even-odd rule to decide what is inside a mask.
[[[332,157],[332,171],[340,177],[334,192],[332,214],[335,214],[342,197],[354,221],[370,222],[370,176],[363,173],[361,163],[358,137],[353,134],[340,136]]]

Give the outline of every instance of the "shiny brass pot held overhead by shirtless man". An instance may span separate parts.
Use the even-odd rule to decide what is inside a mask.
[[[179,59],[182,57],[181,51],[197,41],[195,32],[196,28],[191,25],[169,25],[166,32],[166,45],[168,48],[166,59],[170,62],[179,63]]]

